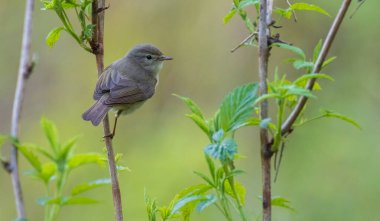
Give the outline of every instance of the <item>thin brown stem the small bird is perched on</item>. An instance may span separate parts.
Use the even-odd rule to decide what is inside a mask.
[[[96,65],[98,69],[98,75],[103,72],[104,69],[104,9],[105,0],[94,0],[92,2],[92,23],[95,24],[93,38],[91,41],[92,52],[96,57]],[[108,115],[103,119],[104,129],[104,142],[107,148],[108,165],[112,181],[112,196],[114,204],[114,215],[116,221],[123,220],[123,210],[121,203],[121,194],[119,181],[117,177],[117,168],[115,162],[115,154],[112,147],[112,138],[109,135],[110,124]]]

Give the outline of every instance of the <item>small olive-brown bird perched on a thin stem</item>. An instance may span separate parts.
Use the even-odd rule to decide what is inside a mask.
[[[97,126],[110,109],[115,110],[113,132],[108,135],[113,137],[118,117],[131,113],[153,96],[165,60],[172,58],[151,44],[135,46],[99,76],[93,95],[96,103],[82,118]]]

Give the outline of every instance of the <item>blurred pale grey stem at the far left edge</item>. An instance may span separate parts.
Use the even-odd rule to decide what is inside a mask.
[[[33,70],[33,65],[30,62],[30,45],[32,33],[32,13],[34,9],[34,0],[27,0],[25,7],[24,28],[20,55],[20,64],[18,69],[17,85],[15,98],[12,109],[11,136],[14,139],[18,138],[21,106],[24,100],[25,83]],[[25,205],[22,197],[22,189],[20,183],[20,175],[18,170],[18,153],[16,146],[12,146],[9,171],[12,178],[13,193],[16,201],[16,210],[18,219],[25,219]]]

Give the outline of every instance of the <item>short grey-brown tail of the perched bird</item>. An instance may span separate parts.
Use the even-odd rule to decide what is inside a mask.
[[[86,112],[82,114],[83,120],[91,121],[94,126],[100,124],[100,121],[106,116],[107,112],[111,109],[111,107],[103,104],[104,100],[107,99],[108,96],[102,96],[92,107],[90,107]]]

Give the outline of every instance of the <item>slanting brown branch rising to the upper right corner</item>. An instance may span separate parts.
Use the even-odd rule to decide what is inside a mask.
[[[312,73],[319,73],[322,69],[323,62],[326,60],[326,56],[331,48],[331,45],[334,41],[334,38],[339,31],[340,25],[342,24],[342,21],[346,15],[346,12],[351,4],[351,0],[343,0],[343,3],[339,9],[339,12],[337,16],[335,17],[335,20],[327,34],[326,40],[323,43],[321,52],[319,53],[319,56],[317,58],[317,61],[315,62],[315,65],[313,67]],[[306,84],[306,89],[313,90],[314,83],[317,79],[312,78],[310,79]],[[298,116],[301,114],[308,98],[307,97],[301,97],[297,105],[294,107],[293,111],[290,113],[289,117],[286,119],[286,121],[282,125],[282,134],[288,134],[292,132],[292,126],[294,122],[297,120]]]

